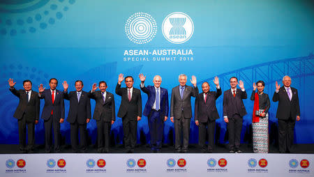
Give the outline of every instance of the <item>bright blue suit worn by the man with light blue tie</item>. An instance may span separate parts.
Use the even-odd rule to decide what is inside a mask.
[[[149,133],[151,135],[151,150],[160,151],[162,140],[163,140],[163,121],[165,116],[168,116],[169,111],[169,100],[168,91],[165,88],[159,89],[159,108],[158,110],[153,109],[154,103],[156,102],[156,88],[155,86],[144,86],[140,85],[141,90],[147,93],[147,103],[144,107],[143,115],[147,116],[149,122]]]

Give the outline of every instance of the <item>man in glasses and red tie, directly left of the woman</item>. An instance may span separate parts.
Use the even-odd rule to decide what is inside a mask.
[[[242,153],[240,150],[241,130],[243,116],[246,115],[243,99],[248,97],[244,89],[244,83],[241,80],[239,81],[239,87],[241,89],[237,88],[237,85],[237,77],[231,77],[231,89],[223,93],[223,120],[227,123],[229,132],[230,153]]]

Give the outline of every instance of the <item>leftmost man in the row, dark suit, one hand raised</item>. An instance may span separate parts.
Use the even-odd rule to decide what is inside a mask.
[[[19,143],[22,153],[33,153],[33,144],[35,141],[35,124],[39,119],[40,100],[38,93],[31,90],[31,81],[24,80],[23,88],[17,91],[14,86],[16,82],[13,79],[8,80],[10,91],[20,99],[19,105],[15,109],[13,117],[17,118],[19,128]],[[28,134],[28,144],[26,146],[26,135]]]

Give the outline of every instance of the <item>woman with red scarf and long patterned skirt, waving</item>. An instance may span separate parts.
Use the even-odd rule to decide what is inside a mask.
[[[268,153],[268,110],[270,107],[269,97],[264,93],[264,82],[258,81],[253,84],[251,100],[254,100],[253,107],[253,151],[254,153]],[[255,90],[257,88],[257,93]]]

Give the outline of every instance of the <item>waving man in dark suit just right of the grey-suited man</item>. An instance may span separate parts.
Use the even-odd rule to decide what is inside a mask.
[[[216,119],[219,114],[216,108],[216,100],[221,95],[221,88],[219,86],[219,79],[215,77],[214,84],[216,84],[216,91],[209,91],[208,82],[202,84],[203,92],[195,98],[194,120],[198,126],[198,142],[202,148],[203,153],[212,153],[214,149],[214,135]],[[206,129],[207,126],[207,129]],[[206,130],[208,134],[208,146],[206,147]]]

